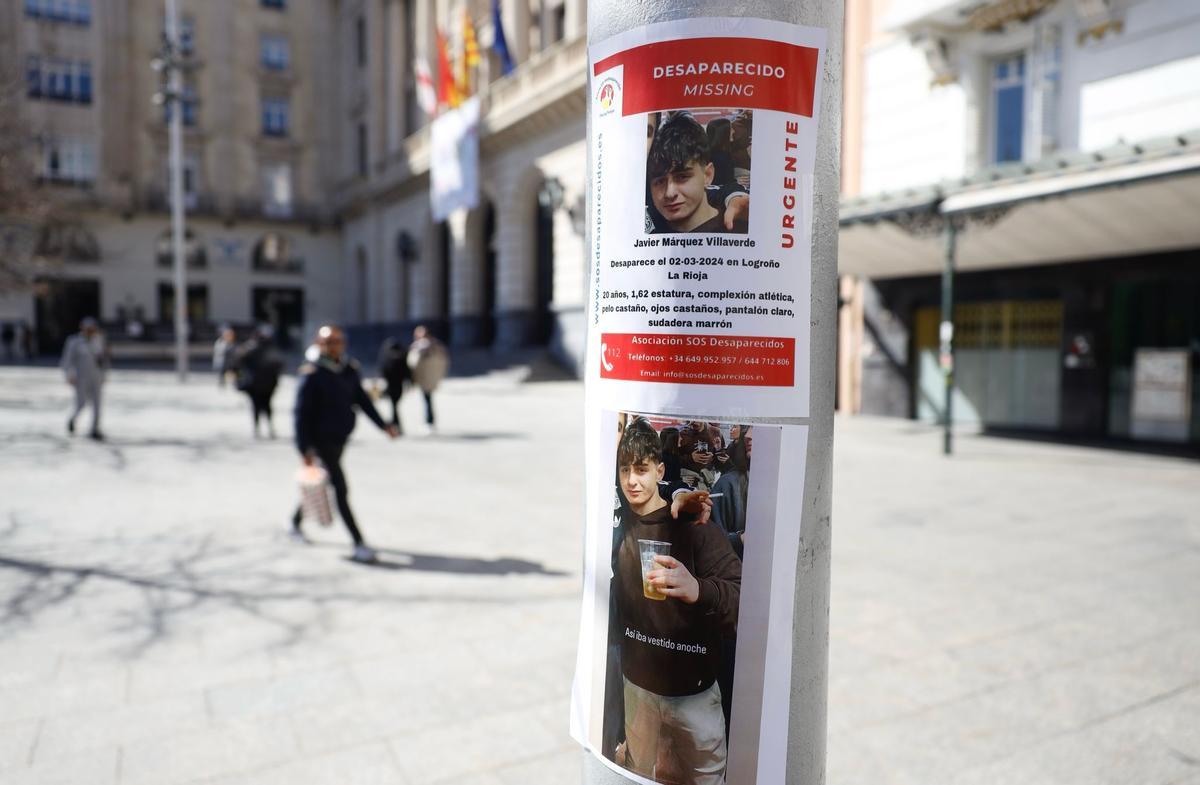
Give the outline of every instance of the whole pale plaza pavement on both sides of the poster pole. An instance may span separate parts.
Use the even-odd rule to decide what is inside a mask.
[[[578,781],[577,384],[360,418],[374,568],[283,535],[296,461],[240,395],[107,395],[110,441],[68,439],[58,373],[0,370],[0,783]],[[828,781],[1200,785],[1200,466],[960,448],[839,423]]]

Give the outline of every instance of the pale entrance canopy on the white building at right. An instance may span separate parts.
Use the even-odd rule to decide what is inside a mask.
[[[956,268],[983,270],[1200,248],[1200,130],[841,204],[839,270],[931,275],[942,228]]]

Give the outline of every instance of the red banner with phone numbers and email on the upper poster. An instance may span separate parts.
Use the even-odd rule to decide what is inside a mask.
[[[605,332],[600,378],[671,384],[792,386],[796,338]]]

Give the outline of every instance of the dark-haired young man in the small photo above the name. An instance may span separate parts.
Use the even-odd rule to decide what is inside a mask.
[[[704,116],[704,115],[702,115]],[[692,112],[652,113],[647,120],[647,214],[652,233],[745,233],[749,198],[736,182],[715,182],[714,143],[724,155],[732,132],[713,116],[710,134]]]

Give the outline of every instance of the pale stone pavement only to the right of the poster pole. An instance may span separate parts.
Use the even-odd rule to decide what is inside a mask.
[[[1200,465],[835,442],[830,784],[1200,785]]]

